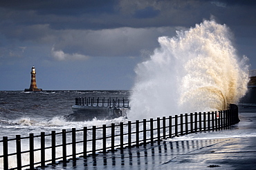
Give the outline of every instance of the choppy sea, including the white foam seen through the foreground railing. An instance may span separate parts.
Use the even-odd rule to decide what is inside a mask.
[[[29,134],[40,135],[41,132],[51,134],[51,131],[61,132],[62,129],[71,131],[72,128],[83,129],[92,126],[102,127],[111,123],[120,123],[124,118],[113,120],[73,121],[70,115],[73,114],[72,105],[75,105],[75,98],[129,98],[129,91],[43,91],[43,92],[21,92],[21,91],[0,91],[0,140],[3,136],[8,139],[16,135],[27,137]],[[56,145],[61,145],[61,136],[57,136]],[[59,139],[60,138],[60,139]],[[77,141],[83,136],[77,133]],[[90,137],[88,137],[90,138]],[[40,148],[40,138],[35,138],[35,149]],[[71,135],[67,136],[67,142],[71,142]],[[15,152],[15,140],[8,142],[8,153]],[[51,146],[51,136],[46,137],[46,147]],[[101,145],[100,145],[101,146]],[[77,145],[77,150],[82,146]],[[3,154],[3,146],[0,145],[0,154]],[[28,139],[21,140],[21,149],[29,149]],[[72,149],[67,148],[67,154]],[[51,150],[46,152],[46,160],[51,159]],[[57,157],[62,155],[61,149],[56,151]],[[40,152],[35,152],[35,162],[40,161]],[[28,164],[29,155],[23,154],[22,163]],[[9,158],[9,166],[16,167],[16,157]],[[0,159],[0,169],[3,168],[3,159]]]

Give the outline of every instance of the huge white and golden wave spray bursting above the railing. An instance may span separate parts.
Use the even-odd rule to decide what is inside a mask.
[[[173,38],[158,38],[161,47],[136,67],[131,119],[179,112],[226,109],[247,91],[246,57],[239,59],[226,25],[203,21]]]

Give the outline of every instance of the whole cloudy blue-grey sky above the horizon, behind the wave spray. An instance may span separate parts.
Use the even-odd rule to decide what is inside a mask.
[[[29,88],[33,66],[43,90],[131,89],[159,36],[212,18],[256,70],[254,0],[1,0],[0,90]]]

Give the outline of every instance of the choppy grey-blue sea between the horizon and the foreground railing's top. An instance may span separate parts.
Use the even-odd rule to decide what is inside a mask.
[[[94,98],[129,98],[129,91],[51,91],[0,92],[0,136],[15,137],[28,136],[30,133],[39,134],[41,131],[61,131],[73,127],[111,124],[118,120],[92,120],[75,122],[70,118],[73,115],[72,105],[77,97]],[[121,121],[122,119],[120,119]]]

